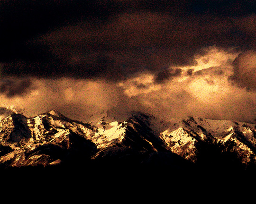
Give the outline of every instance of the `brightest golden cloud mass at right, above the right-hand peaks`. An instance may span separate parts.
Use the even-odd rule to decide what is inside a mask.
[[[216,59],[217,55],[221,60]],[[218,51],[215,47],[196,59],[199,62],[197,66],[181,67],[182,74],[161,84],[148,73],[130,78],[120,85],[130,98],[144,104],[147,112],[165,119],[191,115],[253,122],[256,92],[234,83],[232,77],[236,71],[232,61],[238,59],[236,56],[239,58],[239,53]],[[226,61],[223,61],[225,58]],[[221,62],[219,65],[218,61]],[[205,67],[207,64],[214,67]],[[188,70],[197,71],[187,75]]]

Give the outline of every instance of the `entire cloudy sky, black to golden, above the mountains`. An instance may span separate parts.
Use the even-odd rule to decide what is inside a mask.
[[[255,122],[253,0],[0,0],[0,106]]]

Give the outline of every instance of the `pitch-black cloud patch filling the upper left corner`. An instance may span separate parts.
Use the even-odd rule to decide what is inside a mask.
[[[109,5],[110,6],[110,5]],[[112,6],[112,5],[111,5]],[[25,42],[55,27],[114,12],[104,1],[91,0],[0,0],[1,59],[25,58]]]

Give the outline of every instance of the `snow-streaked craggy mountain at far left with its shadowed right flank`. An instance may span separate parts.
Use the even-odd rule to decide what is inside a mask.
[[[52,114],[51,114],[52,113]],[[75,132],[74,132],[75,131]],[[47,166],[76,157],[90,158],[96,146],[92,130],[55,112],[34,118],[13,114],[1,120],[0,163],[4,166]]]

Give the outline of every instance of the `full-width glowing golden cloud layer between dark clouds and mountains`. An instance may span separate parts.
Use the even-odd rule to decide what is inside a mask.
[[[119,120],[125,119],[130,111],[143,111],[165,120],[191,115],[253,122],[256,91],[245,87],[251,82],[238,84],[247,82],[247,75],[234,79],[240,73],[236,61],[242,61],[244,54],[217,47],[206,50],[204,55],[195,56],[196,65],[169,67],[160,74],[143,70],[117,82],[30,78],[33,88],[11,97],[1,93],[0,105],[25,109],[30,116],[57,109],[83,121],[101,110],[111,110]],[[254,60],[249,65],[249,70],[254,68]],[[193,71],[188,75],[190,70]]]

